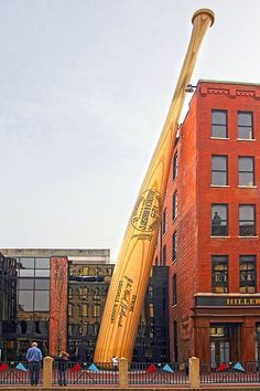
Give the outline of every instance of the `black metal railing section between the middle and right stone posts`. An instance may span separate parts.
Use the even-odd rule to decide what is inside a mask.
[[[187,363],[132,362],[128,371],[129,384],[187,384]]]

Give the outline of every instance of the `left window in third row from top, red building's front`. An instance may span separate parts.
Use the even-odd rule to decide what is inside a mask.
[[[212,236],[228,236],[228,204],[212,204]]]

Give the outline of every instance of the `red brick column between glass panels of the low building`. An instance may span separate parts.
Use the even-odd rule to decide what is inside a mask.
[[[67,274],[66,257],[51,258],[50,355],[67,350]]]

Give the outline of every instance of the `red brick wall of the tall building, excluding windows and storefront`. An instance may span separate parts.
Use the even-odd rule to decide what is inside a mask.
[[[228,139],[212,139],[212,109],[228,110]],[[253,112],[256,140],[238,140],[238,110]],[[239,237],[238,232],[239,203],[256,204],[257,231],[260,230],[260,85],[199,82],[181,128],[181,137],[174,154],[176,151],[178,176],[173,181],[172,171],[170,173],[164,203],[164,208],[167,209],[167,228],[166,233],[159,240],[154,260],[162,258],[161,251],[166,245],[170,266],[171,359],[174,360],[174,320],[177,321],[178,361],[186,360],[198,352],[209,359],[210,318],[196,319],[201,331],[205,332],[203,345],[202,336],[194,336],[196,332],[194,332],[193,310],[196,293],[212,293],[212,255],[229,256],[229,293],[239,293],[239,255],[257,255],[257,292],[260,292],[260,236]],[[228,156],[228,187],[212,187],[212,155]],[[239,156],[254,156],[254,188],[238,187]],[[176,220],[172,221],[172,199],[175,191],[177,191],[178,214]],[[210,237],[212,203],[228,204],[229,237]],[[172,262],[172,235],[175,231],[177,232],[177,258],[176,262]],[[177,276],[177,305],[173,305],[174,274]],[[225,321],[225,317],[226,321],[229,321],[227,314],[223,315],[223,318],[219,317],[219,320]],[[247,319],[245,315],[236,320],[234,315],[230,321],[242,321],[242,335],[246,335]],[[254,330],[256,321],[260,321],[260,318],[251,318],[251,331]],[[194,342],[195,338],[196,342]],[[251,359],[253,347],[249,349],[248,356],[246,350],[247,344],[242,357]]]

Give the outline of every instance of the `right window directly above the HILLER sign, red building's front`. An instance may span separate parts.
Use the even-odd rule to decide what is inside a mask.
[[[240,293],[256,293],[256,256],[240,257]]]

